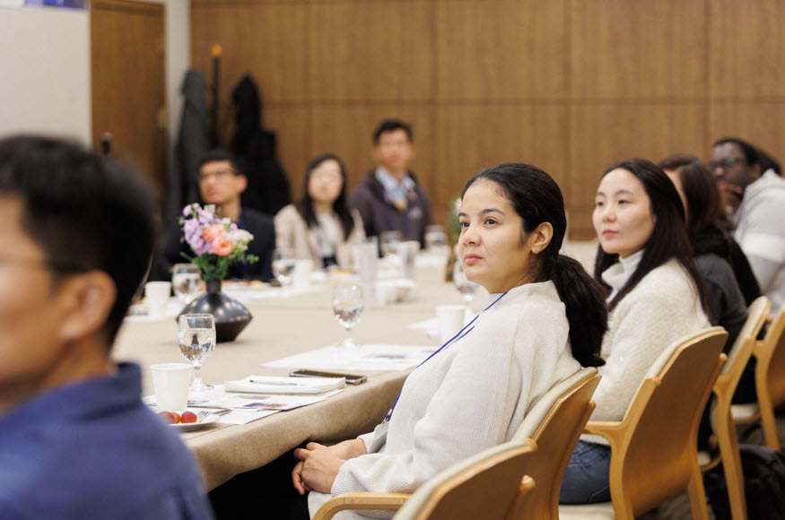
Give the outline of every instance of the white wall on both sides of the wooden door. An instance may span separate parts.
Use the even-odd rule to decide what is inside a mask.
[[[177,134],[183,74],[191,61],[190,2],[166,6],[166,97]],[[92,141],[90,14],[0,6],[0,136],[39,132]]]

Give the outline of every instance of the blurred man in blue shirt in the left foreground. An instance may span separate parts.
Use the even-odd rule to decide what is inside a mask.
[[[139,368],[110,360],[153,250],[152,200],[80,146],[0,141],[0,518],[212,518]]]

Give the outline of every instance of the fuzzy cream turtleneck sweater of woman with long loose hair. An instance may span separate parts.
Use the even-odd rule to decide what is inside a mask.
[[[611,298],[632,276],[642,254],[629,256],[602,273],[613,289]],[[675,259],[644,276],[609,316],[602,343],[606,364],[598,368],[602,379],[592,397],[597,408],[591,420],[622,420],[659,354],[678,338],[709,326],[693,279]],[[607,444],[599,436],[580,438]]]

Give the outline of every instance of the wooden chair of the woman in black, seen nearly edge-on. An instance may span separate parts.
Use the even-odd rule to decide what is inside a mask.
[[[711,458],[707,453],[698,454],[702,471],[713,468],[721,459],[734,520],[746,520],[746,499],[736,424],[731,415],[731,402],[771,308],[772,303],[765,296],[755,299],[750,305],[746,322],[739,331],[736,342],[728,351],[728,361],[722,366],[720,376],[714,383],[713,392],[716,400],[711,403],[711,427],[720,445],[720,456]]]

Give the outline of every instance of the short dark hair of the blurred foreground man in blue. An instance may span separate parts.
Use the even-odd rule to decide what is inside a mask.
[[[78,144],[17,135],[0,140],[0,195],[22,201],[22,230],[56,279],[100,270],[115,282],[109,347],[153,253],[152,189]]]

